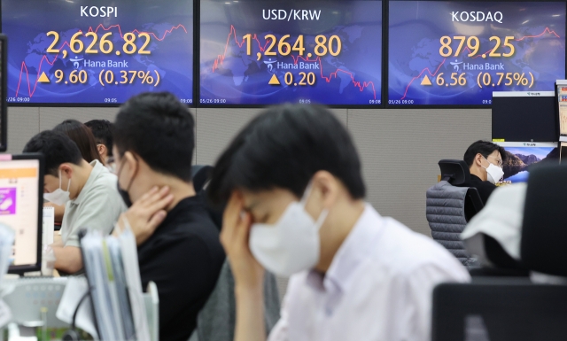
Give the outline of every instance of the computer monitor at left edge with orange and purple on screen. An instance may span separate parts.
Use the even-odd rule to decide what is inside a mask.
[[[0,223],[15,232],[9,273],[42,266],[43,156],[0,155]]]

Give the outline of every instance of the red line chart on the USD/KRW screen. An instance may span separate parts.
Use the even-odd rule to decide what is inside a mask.
[[[237,29],[234,26],[230,25],[230,32],[229,32],[229,36],[227,38],[227,43],[224,47],[224,53],[221,54],[221,55],[218,55],[217,58],[214,60],[213,72],[215,72],[219,68],[219,66],[221,66],[222,63],[224,62],[224,59],[226,58],[226,55],[227,55],[227,51],[229,50],[231,36],[234,37],[234,42],[238,45],[239,48],[242,48],[242,46],[244,45],[245,40],[242,39],[241,42],[238,42]],[[264,43],[264,45],[262,45],[260,43],[260,39],[258,39],[258,35],[256,35],[256,34],[252,35],[252,40],[256,41],[256,43],[258,44],[258,48],[260,49],[261,52],[266,50],[266,48],[268,46],[268,42],[266,42],[266,43]],[[293,55],[290,55],[290,56],[293,59],[293,64],[295,64],[295,65],[297,65],[299,63],[299,59],[303,59],[303,61],[305,61],[305,62],[314,62],[314,63],[316,62],[316,63],[318,63],[319,69],[321,70],[321,78],[323,80],[325,80],[326,82],[330,82],[333,78],[337,78],[339,73],[347,74],[348,76],[351,77],[351,81],[353,82],[353,85],[355,87],[357,87],[358,89],[360,89],[361,92],[364,91],[364,89],[366,89],[366,88],[371,88],[372,92],[374,93],[374,99],[376,99],[376,89],[374,88],[374,82],[373,81],[356,81],[354,79],[353,73],[348,72],[346,70],[343,70],[341,68],[338,68],[336,71],[330,73],[328,76],[325,76],[325,75],[323,75],[323,72],[322,72],[321,57],[317,57],[315,59],[310,59],[310,58],[303,58],[302,56],[297,56],[297,57],[293,56]]]

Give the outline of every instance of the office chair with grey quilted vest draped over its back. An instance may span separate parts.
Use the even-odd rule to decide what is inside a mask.
[[[476,261],[465,251],[462,230],[483,207],[475,188],[455,187],[470,181],[467,164],[462,160],[439,161],[441,181],[426,192],[426,217],[433,239],[461,260],[466,267],[476,267]]]

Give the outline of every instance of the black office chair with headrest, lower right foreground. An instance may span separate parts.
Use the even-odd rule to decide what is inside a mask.
[[[567,277],[567,166],[530,171],[520,244],[529,271]],[[565,278],[567,279],[567,278]],[[565,340],[567,285],[488,278],[433,291],[433,341]],[[565,281],[563,281],[564,283]]]

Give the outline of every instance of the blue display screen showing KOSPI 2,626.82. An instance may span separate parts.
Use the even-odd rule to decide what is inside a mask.
[[[193,1],[2,0],[8,102],[120,104],[193,93]]]

